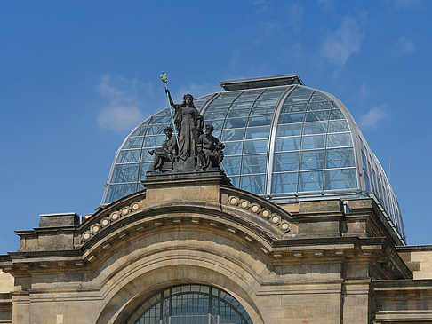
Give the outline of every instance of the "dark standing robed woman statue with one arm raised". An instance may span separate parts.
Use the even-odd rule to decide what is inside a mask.
[[[197,156],[196,143],[198,137],[203,133],[203,116],[199,114],[194,106],[194,97],[190,93],[183,96],[181,104],[174,104],[170,91],[165,92],[170,99],[170,105],[175,109],[174,122],[179,137],[179,159],[187,161]]]

